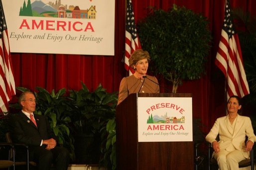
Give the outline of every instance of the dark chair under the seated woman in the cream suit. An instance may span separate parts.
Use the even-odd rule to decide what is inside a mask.
[[[208,170],[212,170],[212,167],[218,170],[219,167],[218,167],[217,161],[214,158],[212,158],[212,153],[213,153],[213,149],[212,149],[211,143],[208,143]],[[249,166],[251,166],[251,170],[254,170],[254,147],[250,152],[250,158],[239,162],[239,168],[244,168]]]

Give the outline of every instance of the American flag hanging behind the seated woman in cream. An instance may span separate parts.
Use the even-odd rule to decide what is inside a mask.
[[[225,18],[215,63],[226,77],[227,99],[233,95],[244,97],[250,93],[229,0],[226,1]]]

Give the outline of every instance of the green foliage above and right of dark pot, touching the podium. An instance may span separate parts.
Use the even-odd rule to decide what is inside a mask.
[[[108,169],[116,169],[117,93],[106,92],[101,84],[94,92],[90,92],[82,83],[82,89],[70,91],[70,100],[76,108],[71,117],[73,132],[94,135],[95,141],[100,135],[98,148],[103,154],[100,164]]]

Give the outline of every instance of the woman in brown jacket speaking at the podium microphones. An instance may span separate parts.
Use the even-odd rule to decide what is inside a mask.
[[[159,84],[154,76],[146,75],[150,56],[141,49],[132,53],[129,66],[134,73],[124,77],[120,83],[118,105],[131,93],[159,93]]]

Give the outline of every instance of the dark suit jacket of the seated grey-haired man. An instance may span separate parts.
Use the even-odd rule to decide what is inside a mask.
[[[22,112],[13,114],[9,118],[9,131],[14,143],[24,143],[29,145],[29,152],[33,155],[34,147],[40,147],[42,139],[53,138],[57,141],[47,118],[43,115],[34,114],[37,127]],[[41,147],[46,147],[42,145]],[[23,154],[22,154],[23,155]]]

